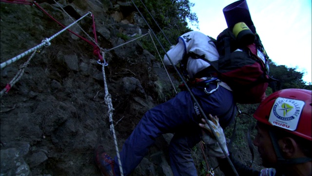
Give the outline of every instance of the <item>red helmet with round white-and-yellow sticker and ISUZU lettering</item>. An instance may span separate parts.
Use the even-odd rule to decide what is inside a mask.
[[[290,88],[274,92],[261,102],[254,118],[311,141],[312,91]]]

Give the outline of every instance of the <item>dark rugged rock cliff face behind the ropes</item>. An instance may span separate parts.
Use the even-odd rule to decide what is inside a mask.
[[[105,49],[147,32],[135,8],[125,1],[37,2],[65,26],[73,22],[68,15],[77,20],[92,12],[98,44]],[[1,63],[62,29],[36,6],[1,2],[0,8]],[[79,28],[93,37],[91,25],[88,16],[70,29],[91,40]],[[144,38],[150,40],[149,35]],[[93,46],[68,31],[50,42],[35,54],[21,79],[1,97],[1,175],[100,175],[93,161],[97,145],[104,144],[109,154],[116,154],[104,103],[101,65],[93,55]],[[1,89],[29,56],[1,69]],[[142,115],[174,92],[163,66],[140,40],[106,52],[105,59],[109,63],[105,74],[120,150]],[[172,79],[176,86],[178,82]],[[172,175],[167,155],[170,138],[171,134],[167,134],[156,140],[134,175]]]

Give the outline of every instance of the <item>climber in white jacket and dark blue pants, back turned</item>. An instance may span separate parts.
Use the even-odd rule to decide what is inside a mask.
[[[191,79],[190,88],[205,114],[214,114],[220,118],[222,128],[227,127],[236,114],[232,90],[225,83],[217,80],[210,64],[202,59],[189,57],[192,53],[205,55],[209,61],[218,60],[215,44],[203,33],[191,31],[178,38],[178,43],[167,52],[173,64],[178,64],[186,56],[186,70]],[[185,58],[185,57],[184,57]],[[171,64],[167,56],[164,63]],[[125,141],[120,152],[120,159],[125,176],[137,167],[147,154],[157,136],[174,133],[169,144],[170,163],[175,176],[197,176],[192,148],[201,140],[200,112],[192,100],[189,91],[180,91],[171,100],[148,110],[137,124],[132,134]],[[112,159],[99,146],[96,161],[101,172],[106,176],[119,176],[117,157]]]

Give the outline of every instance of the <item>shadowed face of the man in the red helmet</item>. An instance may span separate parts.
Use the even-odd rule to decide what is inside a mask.
[[[277,157],[273,148],[271,137],[266,126],[260,123],[256,125],[257,135],[254,138],[254,145],[258,147],[258,152],[262,158],[264,167],[274,167]]]

